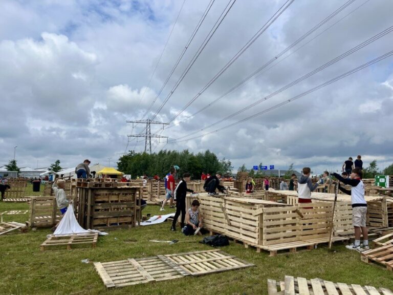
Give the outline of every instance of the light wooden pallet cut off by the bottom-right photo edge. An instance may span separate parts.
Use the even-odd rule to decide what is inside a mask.
[[[277,290],[277,287],[280,289]],[[393,295],[385,288],[377,290],[373,286],[360,286],[355,284],[333,283],[321,279],[307,280],[285,276],[284,282],[268,279],[269,295]]]

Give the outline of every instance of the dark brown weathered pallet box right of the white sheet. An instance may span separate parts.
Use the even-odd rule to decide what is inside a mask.
[[[140,222],[140,186],[112,183],[107,187],[107,183],[90,182],[78,183],[77,189],[77,220],[83,228],[128,228]]]

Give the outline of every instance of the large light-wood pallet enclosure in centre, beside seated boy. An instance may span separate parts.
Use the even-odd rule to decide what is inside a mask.
[[[192,199],[188,198],[188,203]],[[208,230],[242,241],[246,246],[254,246],[257,251],[270,251],[271,256],[278,250],[312,249],[316,244],[329,241],[332,202],[287,205],[207,194],[200,194],[198,199]],[[345,219],[349,218],[350,215],[345,216]],[[334,241],[346,239],[334,237]]]

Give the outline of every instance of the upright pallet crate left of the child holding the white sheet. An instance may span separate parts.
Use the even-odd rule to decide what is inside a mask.
[[[29,227],[51,227],[61,218],[55,197],[31,197],[29,220],[26,222]]]

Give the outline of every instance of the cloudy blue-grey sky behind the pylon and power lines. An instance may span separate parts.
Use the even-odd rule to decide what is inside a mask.
[[[168,122],[286,3],[237,0],[155,116],[232,2],[213,2],[158,96],[209,0],[186,0],[183,7],[183,0],[1,0],[0,165],[13,158],[14,146],[18,165],[32,167],[47,166],[56,159],[63,167],[72,167],[85,158],[107,165],[108,157],[113,165],[126,149],[143,151],[143,139],[127,139],[127,134],[144,132],[143,125],[133,129],[126,120],[155,117]],[[393,56],[281,107],[231,124],[393,50],[393,33],[219,122],[393,25],[392,1],[356,0],[279,55],[345,2],[295,0],[169,128],[162,131],[152,125],[152,133],[169,137],[166,145],[166,141],[158,144],[154,140],[152,149],[210,149],[230,159],[235,170],[243,163],[252,167],[262,162],[280,168],[294,163],[298,169],[311,166],[315,172],[332,171],[358,154],[366,165],[374,159],[381,168],[391,164]],[[255,79],[191,116],[277,55]]]

